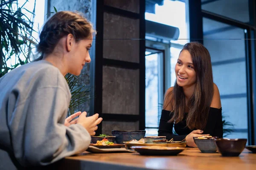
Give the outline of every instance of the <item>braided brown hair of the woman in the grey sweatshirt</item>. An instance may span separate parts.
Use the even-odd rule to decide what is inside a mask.
[[[93,33],[96,31],[92,24],[81,14],[71,11],[57,12],[44,24],[39,36],[40,42],[36,46],[41,56],[34,61],[43,59],[44,54],[51,54],[59,40],[68,34],[72,34],[78,42],[90,37]]]

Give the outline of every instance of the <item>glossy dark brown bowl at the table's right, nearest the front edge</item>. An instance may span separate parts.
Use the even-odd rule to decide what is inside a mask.
[[[222,156],[239,156],[244,150],[247,139],[215,139]]]

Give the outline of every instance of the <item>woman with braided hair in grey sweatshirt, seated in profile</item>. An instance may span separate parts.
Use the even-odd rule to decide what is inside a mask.
[[[78,13],[60,11],[44,25],[42,55],[0,79],[0,169],[52,164],[85,150],[102,121],[86,112],[66,119],[71,93],[64,76],[90,62],[92,25]]]

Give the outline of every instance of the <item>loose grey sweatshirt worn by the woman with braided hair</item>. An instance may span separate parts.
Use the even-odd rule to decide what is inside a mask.
[[[88,147],[84,127],[64,125],[70,99],[66,79],[47,61],[0,78],[0,170],[48,165]]]

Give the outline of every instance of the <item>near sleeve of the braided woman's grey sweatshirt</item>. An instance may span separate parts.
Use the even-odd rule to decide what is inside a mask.
[[[45,87],[15,108],[9,128],[13,152],[21,165],[48,165],[87,149],[91,140],[87,130],[79,124],[66,127],[61,121],[69,101],[63,88]]]

